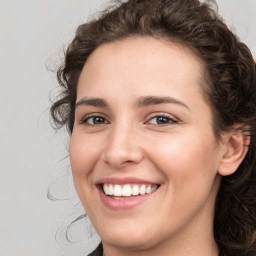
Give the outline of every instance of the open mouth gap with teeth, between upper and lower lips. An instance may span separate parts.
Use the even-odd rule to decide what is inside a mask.
[[[128,199],[135,196],[150,194],[155,191],[159,185],[157,184],[113,184],[101,183],[102,191],[105,195],[114,199]]]

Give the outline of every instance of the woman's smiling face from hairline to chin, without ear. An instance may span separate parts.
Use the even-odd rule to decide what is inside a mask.
[[[201,74],[188,49],[150,37],[103,44],[86,61],[70,163],[103,244],[145,249],[212,234],[220,145]]]

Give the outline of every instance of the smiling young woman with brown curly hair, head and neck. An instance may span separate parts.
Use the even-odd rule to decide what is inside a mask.
[[[209,4],[110,6],[57,74],[90,255],[255,255],[255,62]]]

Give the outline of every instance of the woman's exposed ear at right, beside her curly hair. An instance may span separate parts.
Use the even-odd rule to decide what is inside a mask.
[[[218,173],[226,176],[234,173],[242,162],[248,151],[250,137],[236,129],[236,131],[225,134],[222,143]]]

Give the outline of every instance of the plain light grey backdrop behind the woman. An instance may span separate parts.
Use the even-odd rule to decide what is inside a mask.
[[[218,0],[219,12],[256,55],[256,0]],[[104,0],[0,0],[0,256],[79,256],[98,243],[72,185],[48,94],[61,48]],[[53,94],[57,89],[53,89]],[[62,159],[62,160],[61,160]],[[48,187],[53,197],[46,197]],[[63,200],[65,198],[69,198]],[[88,230],[87,230],[88,229]],[[58,230],[58,231],[57,231]]]

